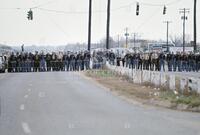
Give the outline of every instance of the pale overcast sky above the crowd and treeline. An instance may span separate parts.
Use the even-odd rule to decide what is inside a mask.
[[[0,43],[9,45],[65,45],[87,42],[89,0],[0,0]],[[193,0],[137,0],[140,15],[136,16],[136,1],[111,0],[111,36],[139,33],[144,39],[166,39],[166,24],[170,20],[170,35],[182,34],[180,8],[189,8],[186,33],[193,39]],[[170,3],[169,5],[167,5]],[[167,5],[167,15],[163,6]],[[197,40],[200,42],[200,2],[197,3]],[[66,12],[50,12],[34,8],[34,20],[28,21],[31,7]],[[20,9],[15,9],[20,8]],[[106,35],[107,0],[93,0],[92,42]],[[99,12],[101,11],[101,12]]]

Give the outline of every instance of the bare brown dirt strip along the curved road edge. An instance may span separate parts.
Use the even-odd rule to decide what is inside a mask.
[[[84,73],[85,76],[89,77],[93,81],[96,81],[100,85],[108,88],[114,95],[117,95],[124,100],[141,104],[141,105],[151,105],[151,106],[158,106],[164,108],[170,108],[180,111],[193,111],[199,112],[200,108],[196,110],[188,109],[185,105],[177,105],[172,103],[169,100],[163,100],[160,98],[160,94],[162,94],[162,90],[159,88],[155,88],[150,84],[134,84],[128,81],[123,76],[115,76],[111,75],[109,77],[99,76],[95,73]]]

